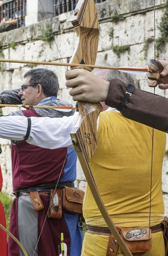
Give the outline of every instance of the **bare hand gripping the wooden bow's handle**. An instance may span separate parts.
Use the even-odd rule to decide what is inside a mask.
[[[97,103],[106,101],[109,82],[84,69],[74,69],[65,73],[66,86],[72,88],[69,94],[74,101]]]

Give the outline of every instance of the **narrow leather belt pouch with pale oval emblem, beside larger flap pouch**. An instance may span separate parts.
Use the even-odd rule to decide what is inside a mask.
[[[62,216],[62,191],[50,189],[48,218],[60,219]]]

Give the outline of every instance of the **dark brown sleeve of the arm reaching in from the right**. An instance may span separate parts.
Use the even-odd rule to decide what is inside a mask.
[[[126,88],[124,82],[111,80],[106,104],[117,108]],[[126,118],[168,132],[168,98],[135,89],[120,112]]]

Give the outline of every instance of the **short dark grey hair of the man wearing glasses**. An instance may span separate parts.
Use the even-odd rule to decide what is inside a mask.
[[[30,83],[41,84],[46,97],[57,97],[59,82],[57,75],[47,68],[35,68],[27,71],[24,78],[30,76]]]

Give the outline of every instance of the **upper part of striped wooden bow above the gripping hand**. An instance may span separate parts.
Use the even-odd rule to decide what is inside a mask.
[[[80,9],[81,8],[81,9]],[[96,13],[96,6],[92,1],[79,0],[73,14],[72,24],[75,24],[77,43],[70,63],[79,63],[83,60],[84,64],[94,65],[98,48],[99,24]],[[84,15],[84,11],[88,16]],[[74,11],[75,13],[75,11]]]

